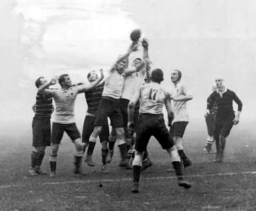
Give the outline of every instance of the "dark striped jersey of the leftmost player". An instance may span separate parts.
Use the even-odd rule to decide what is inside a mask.
[[[51,118],[52,114],[52,98],[47,95],[36,95],[36,113],[34,118]]]

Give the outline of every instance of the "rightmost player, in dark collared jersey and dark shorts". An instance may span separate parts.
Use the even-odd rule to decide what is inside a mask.
[[[212,109],[214,102],[216,102],[218,111],[215,119],[214,139],[217,154],[214,162],[222,162],[226,146],[226,138],[230,134],[230,130],[232,129],[233,125],[239,123],[239,117],[243,104],[233,91],[224,86],[223,78],[217,77],[215,82],[217,90],[213,92],[207,100],[206,113],[207,115],[210,115],[210,110]],[[236,115],[234,114],[233,110],[233,100],[238,105]]]

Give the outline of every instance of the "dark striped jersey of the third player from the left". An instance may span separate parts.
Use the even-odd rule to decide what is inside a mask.
[[[101,95],[104,89],[104,83],[94,87],[93,89],[84,92],[86,103],[88,106],[86,115],[95,116],[98,106],[100,104]]]

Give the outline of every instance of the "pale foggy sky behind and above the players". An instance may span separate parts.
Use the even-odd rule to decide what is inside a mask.
[[[31,127],[38,77],[68,73],[72,82],[88,83],[90,70],[107,72],[126,52],[135,28],[148,38],[150,60],[164,71],[167,90],[171,71],[182,72],[194,94],[188,102],[191,121],[204,121],[206,98],[215,77],[222,76],[243,102],[240,121],[254,122],[254,0],[1,0],[1,134]],[[86,108],[80,94],[79,129]]]

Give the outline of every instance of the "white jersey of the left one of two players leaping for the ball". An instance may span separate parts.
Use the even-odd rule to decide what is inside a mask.
[[[105,80],[102,96],[120,99],[124,86],[124,74],[119,74],[116,70],[112,71]]]

